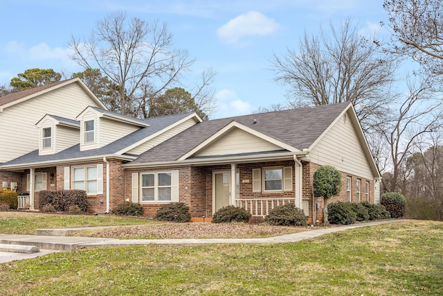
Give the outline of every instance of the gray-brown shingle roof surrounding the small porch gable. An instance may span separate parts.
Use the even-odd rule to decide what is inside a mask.
[[[204,121],[142,153],[132,164],[177,160],[232,121],[302,150],[309,148],[349,105],[338,103]]]

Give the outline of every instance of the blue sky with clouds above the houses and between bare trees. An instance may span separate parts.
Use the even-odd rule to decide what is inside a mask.
[[[275,82],[272,55],[297,49],[320,26],[350,18],[364,34],[386,21],[383,0],[0,0],[0,85],[26,69],[82,71],[70,56],[71,36],[88,37],[98,21],[123,11],[128,18],[168,24],[174,48],[195,59],[189,83],[205,69],[217,108],[210,119],[251,114],[287,101]]]

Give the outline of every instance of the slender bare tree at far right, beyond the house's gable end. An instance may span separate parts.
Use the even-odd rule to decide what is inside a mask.
[[[387,191],[405,191],[409,179],[406,160],[416,152],[417,146],[426,136],[442,128],[442,100],[436,98],[439,89],[432,76],[415,77],[408,80],[408,94],[399,107],[392,107],[388,121],[379,125],[378,132],[388,143],[388,169],[390,182],[382,180]],[[381,143],[383,143],[381,141]],[[390,166],[390,167],[389,167]]]

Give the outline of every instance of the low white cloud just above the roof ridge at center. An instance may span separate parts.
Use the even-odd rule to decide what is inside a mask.
[[[217,101],[217,111],[211,116],[213,119],[251,114],[253,110],[250,103],[240,100],[237,94],[230,89],[222,89],[217,92],[215,100]]]

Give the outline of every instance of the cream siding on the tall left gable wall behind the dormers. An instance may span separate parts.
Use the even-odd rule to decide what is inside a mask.
[[[74,82],[5,108],[0,112],[0,163],[39,148],[39,130],[35,123],[45,114],[75,119],[87,105],[98,106],[96,101]]]

